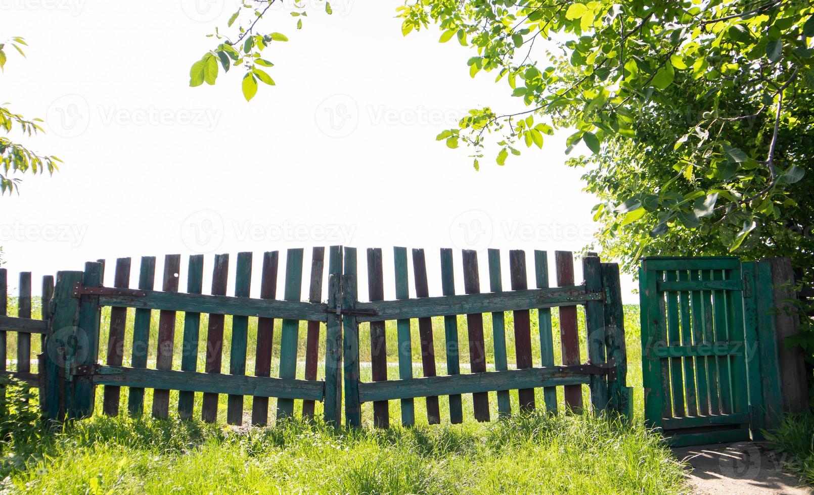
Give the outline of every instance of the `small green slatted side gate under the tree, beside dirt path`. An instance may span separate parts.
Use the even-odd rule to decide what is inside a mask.
[[[672,445],[760,437],[781,410],[768,263],[643,258],[645,419]]]

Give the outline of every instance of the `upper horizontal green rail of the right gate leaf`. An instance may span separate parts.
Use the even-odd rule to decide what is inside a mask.
[[[357,309],[371,311],[360,315],[359,321],[426,318],[510,310],[531,310],[545,307],[578,306],[589,301],[602,301],[602,294],[586,294],[581,285],[527,289],[494,293],[475,293],[460,296],[421,297],[383,302],[360,302]],[[574,311],[576,309],[574,308]]]

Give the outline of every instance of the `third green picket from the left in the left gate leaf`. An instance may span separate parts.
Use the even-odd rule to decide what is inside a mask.
[[[237,270],[234,275],[235,297],[249,297],[252,289],[252,253],[238,253]],[[249,319],[247,316],[232,318],[232,344],[229,354],[229,374],[246,374],[246,353],[248,350]],[[243,424],[243,395],[230,393],[226,398],[226,423]]]

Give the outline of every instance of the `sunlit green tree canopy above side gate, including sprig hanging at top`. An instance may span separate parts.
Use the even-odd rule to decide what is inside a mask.
[[[214,84],[219,66],[243,67],[247,100],[258,82],[274,85],[261,52],[287,37],[259,23],[275,1],[244,3],[225,27],[231,34],[216,28],[190,85]],[[296,28],[308,15],[301,6],[291,11]],[[330,2],[324,9],[330,14]],[[795,222],[810,237],[799,224],[810,218],[800,216],[811,208],[808,189],[798,185],[812,156],[812,13],[805,0],[407,0],[397,8],[405,36],[437,26],[440,42],[472,50],[470,76],[492,72],[518,98],[516,108],[471,110],[438,140],[466,147],[477,169],[488,142],[504,165],[524,147],[542,148],[555,129],[574,129],[568,152],[583,142],[592,155],[568,163],[587,167],[586,189],[601,201],[600,243],[628,268],[641,254],[675,249],[676,238],[702,237],[691,250],[742,252]]]

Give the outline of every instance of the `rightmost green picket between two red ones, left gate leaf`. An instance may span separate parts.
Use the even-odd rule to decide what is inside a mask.
[[[303,283],[303,250],[291,249],[286,254],[286,301],[300,301]],[[322,316],[324,318],[324,315]],[[294,378],[297,371],[297,343],[300,341],[300,320],[283,319],[280,330],[280,378]],[[277,401],[277,419],[294,416],[294,401]]]

